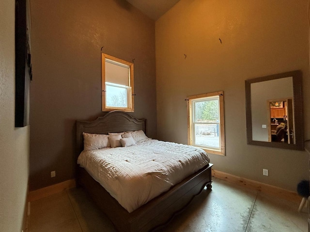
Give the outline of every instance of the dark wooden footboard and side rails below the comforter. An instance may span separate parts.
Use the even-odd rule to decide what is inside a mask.
[[[78,168],[78,184],[91,195],[95,203],[109,217],[120,232],[148,232],[163,226],[182,211],[203,188],[211,188],[212,176],[209,164],[188,176],[169,191],[128,213],[83,168]]]

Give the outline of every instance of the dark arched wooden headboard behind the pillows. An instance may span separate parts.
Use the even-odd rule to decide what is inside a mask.
[[[83,132],[92,134],[108,134],[123,131],[146,132],[146,119],[137,119],[123,111],[111,111],[94,121],[77,121],[77,157],[83,150]]]

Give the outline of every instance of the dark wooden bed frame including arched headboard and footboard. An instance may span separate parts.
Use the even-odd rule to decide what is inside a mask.
[[[83,132],[108,134],[108,132],[138,131],[146,133],[146,119],[137,119],[121,111],[109,112],[92,122],[77,121],[77,158],[83,150]],[[109,217],[118,231],[147,232],[166,225],[181,212],[206,186],[211,189],[211,167],[186,177],[167,192],[155,197],[135,211],[128,213],[87,171],[78,166],[77,184],[85,190]]]

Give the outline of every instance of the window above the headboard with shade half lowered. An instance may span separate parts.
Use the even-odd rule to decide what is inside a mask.
[[[102,53],[102,111],[134,112],[134,64]]]

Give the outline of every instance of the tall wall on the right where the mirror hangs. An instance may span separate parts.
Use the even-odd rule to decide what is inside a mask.
[[[223,90],[226,156],[210,154],[214,168],[290,190],[309,177],[306,152],[247,145],[245,108],[246,79],[301,70],[310,139],[308,0],[181,0],[155,34],[159,139],[187,143],[186,97]]]

